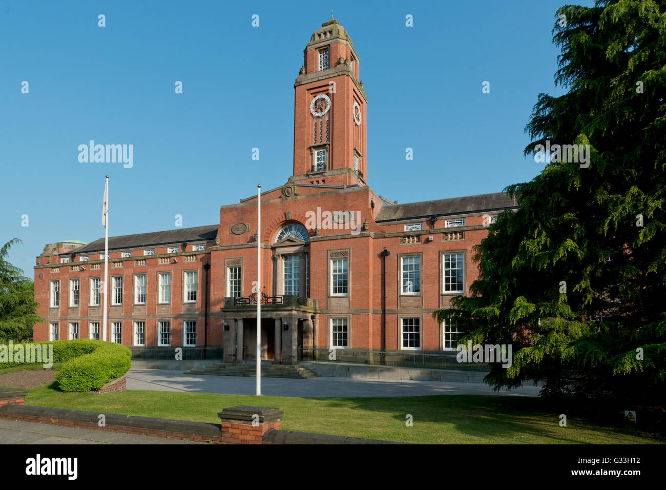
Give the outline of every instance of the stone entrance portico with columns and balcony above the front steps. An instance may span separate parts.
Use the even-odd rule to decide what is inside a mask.
[[[261,359],[296,364],[301,349],[313,347],[318,301],[293,295],[268,298],[263,297],[261,307]],[[256,301],[227,297],[221,311],[224,362],[256,360]]]

